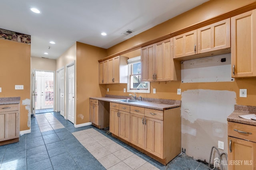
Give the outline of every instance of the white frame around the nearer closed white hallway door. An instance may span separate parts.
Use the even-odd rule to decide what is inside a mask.
[[[65,78],[66,78],[66,81],[65,81],[65,119],[68,119],[68,67],[74,65],[74,125],[76,124],[76,64],[75,64],[75,61],[72,61],[70,62],[69,64],[66,64],[66,67],[65,67]]]

